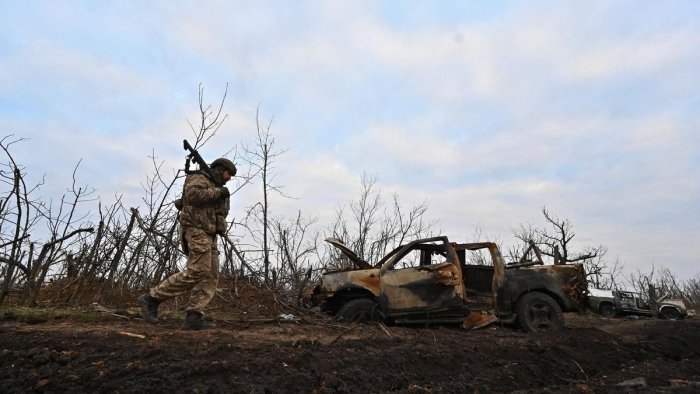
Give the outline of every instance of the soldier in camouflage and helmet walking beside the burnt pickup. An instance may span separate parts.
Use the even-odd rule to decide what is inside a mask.
[[[214,297],[219,279],[219,251],[216,235],[227,229],[229,190],[224,185],[236,175],[236,166],[226,158],[211,163],[212,180],[202,171],[187,176],[182,198],[175,201],[180,210],[180,240],[187,255],[187,267],[138,298],[141,316],[149,323],[158,323],[161,302],[190,292],[186,308],[185,330],[215,328],[213,322],[203,320],[203,310]]]

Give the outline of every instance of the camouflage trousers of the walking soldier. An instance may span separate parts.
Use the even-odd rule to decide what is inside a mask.
[[[203,313],[214,298],[219,281],[219,250],[215,237],[202,229],[186,227],[184,239],[190,252],[187,267],[152,288],[151,297],[164,301],[191,290],[186,310]]]

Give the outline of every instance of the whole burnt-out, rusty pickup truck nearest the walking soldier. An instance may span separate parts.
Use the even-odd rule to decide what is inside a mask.
[[[527,332],[550,331],[563,327],[563,311],[580,310],[585,302],[580,264],[508,267],[491,242],[419,239],[370,264],[340,240],[326,241],[355,268],[325,273],[311,302],[341,321],[473,327],[499,320]],[[478,251],[490,265],[466,263],[466,253]]]

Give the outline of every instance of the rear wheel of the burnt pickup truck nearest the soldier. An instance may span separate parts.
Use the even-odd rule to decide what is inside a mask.
[[[564,314],[552,297],[527,293],[515,305],[518,326],[525,332],[558,331],[564,327]]]

